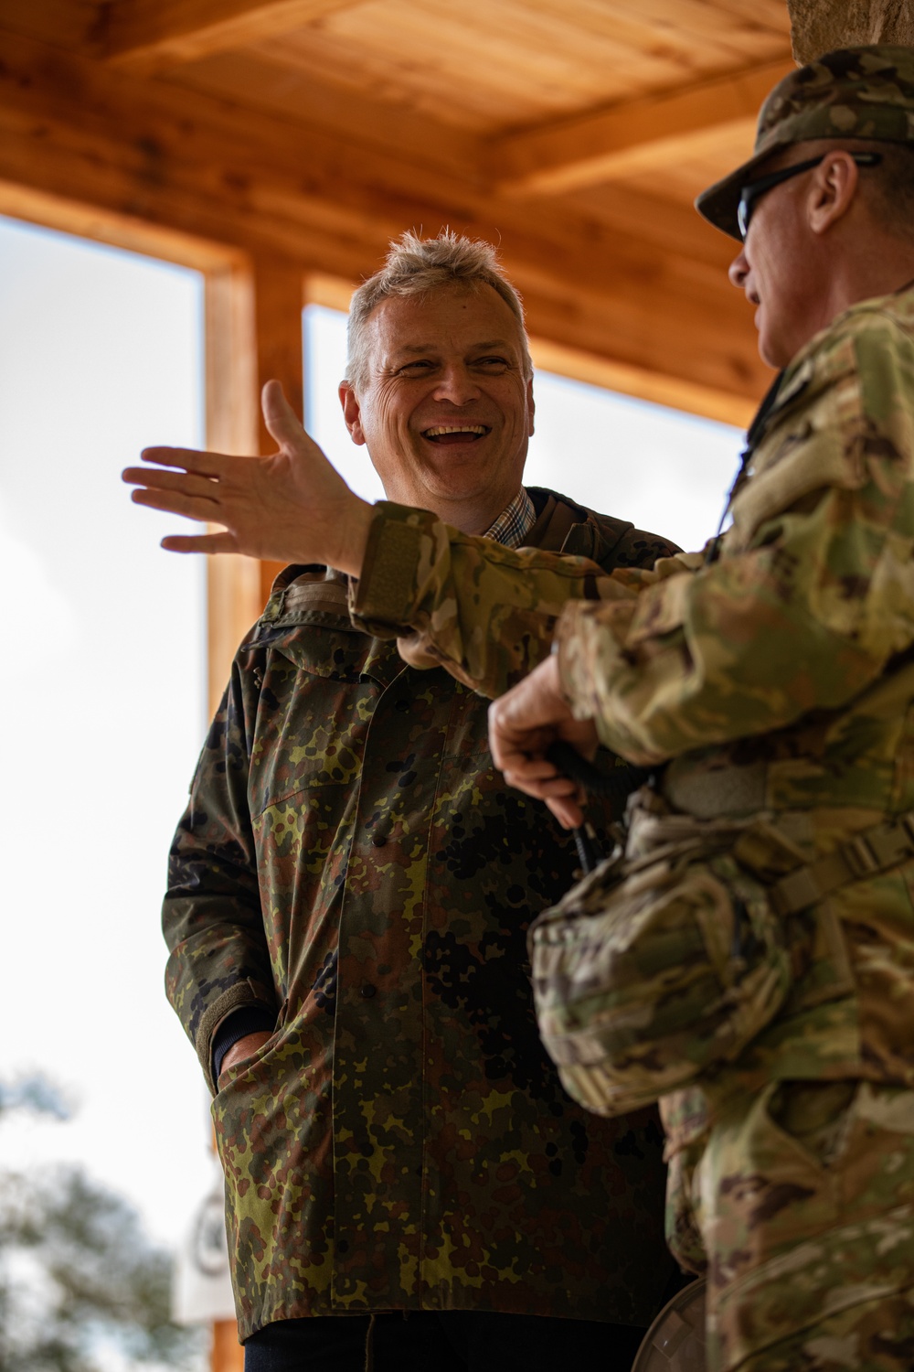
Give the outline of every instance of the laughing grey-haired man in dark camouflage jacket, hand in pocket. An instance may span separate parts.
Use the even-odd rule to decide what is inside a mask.
[[[670,545],[523,487],[530,376],[488,244],[407,235],[355,294],[340,395],[392,499],[485,546],[651,565]],[[275,460],[182,454],[196,475],[147,472],[136,498],[193,513],[214,464],[248,494],[263,472],[245,552],[299,558],[318,502],[285,438],[307,439],[275,387],[266,414]],[[322,556],[358,571],[373,510],[323,475]],[[373,587],[399,606],[412,543],[391,528]],[[245,1369],[360,1372],[367,1338],[378,1372],[628,1372],[673,1272],[658,1121],[563,1093],[526,969],[573,845],[497,778],[485,702],[360,628],[355,590],[278,578],[171,853],[167,989],[217,1092]]]

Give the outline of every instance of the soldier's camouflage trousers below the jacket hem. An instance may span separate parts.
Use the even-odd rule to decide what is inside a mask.
[[[914,1092],[773,1081],[730,1095],[693,1205],[714,1255],[710,1367],[914,1365]]]

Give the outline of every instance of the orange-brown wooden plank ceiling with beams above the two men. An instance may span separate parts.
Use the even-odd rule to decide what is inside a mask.
[[[0,0],[0,211],[318,295],[451,225],[541,362],[744,421],[766,370],[691,202],[791,66],[784,0]]]

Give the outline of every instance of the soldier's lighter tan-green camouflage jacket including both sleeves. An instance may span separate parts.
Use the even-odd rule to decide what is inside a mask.
[[[798,354],[732,513],[718,560],[596,580],[429,521],[414,601],[388,627],[408,660],[488,696],[555,632],[576,712],[623,757],[670,760],[676,808],[780,812],[821,856],[914,808],[914,289],[854,306]],[[402,519],[418,536],[429,517]],[[373,538],[389,539],[381,520]],[[747,1085],[914,1085],[913,881],[907,863],[825,903],[787,1010],[740,1063]]]

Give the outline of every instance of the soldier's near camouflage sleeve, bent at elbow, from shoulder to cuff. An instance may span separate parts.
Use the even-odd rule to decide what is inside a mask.
[[[734,502],[718,563],[558,626],[574,712],[652,763],[844,705],[914,641],[914,362],[896,325],[828,342]]]

